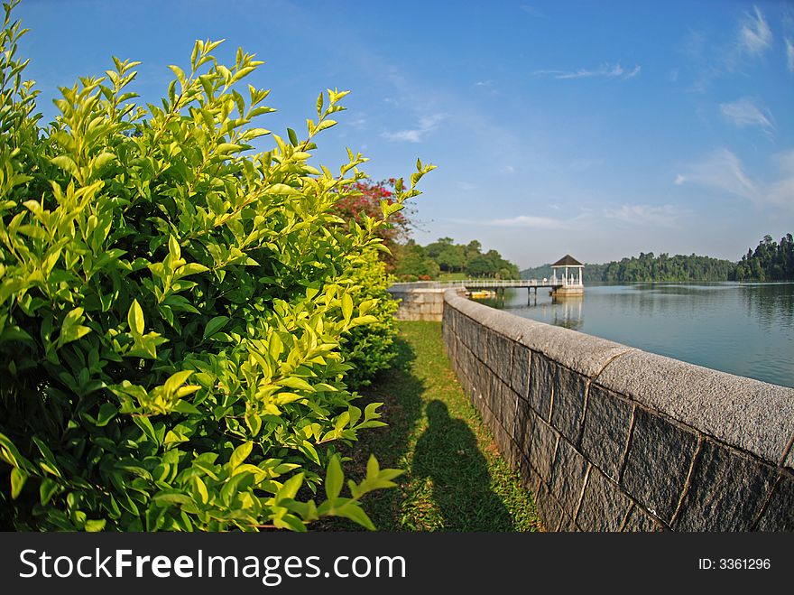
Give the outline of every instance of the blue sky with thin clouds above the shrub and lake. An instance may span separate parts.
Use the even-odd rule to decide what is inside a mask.
[[[272,88],[258,124],[277,134],[350,89],[318,160],[350,147],[375,180],[436,163],[421,244],[479,239],[521,267],[736,260],[794,231],[791,3],[23,0],[16,16],[48,119],[57,88],[112,55],[162,97],[199,38],[266,61],[249,81]]]

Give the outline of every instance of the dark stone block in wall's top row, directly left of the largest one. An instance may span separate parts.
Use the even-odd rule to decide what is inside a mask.
[[[697,436],[642,407],[623,467],[623,488],[652,514],[669,523],[687,483]]]

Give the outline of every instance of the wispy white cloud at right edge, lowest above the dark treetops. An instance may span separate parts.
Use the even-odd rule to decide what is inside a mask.
[[[794,149],[774,154],[772,163],[779,171],[777,178],[771,181],[753,180],[734,153],[720,148],[704,161],[688,165],[683,173],[679,173],[675,183],[695,183],[751,200],[758,205],[794,208]]]

